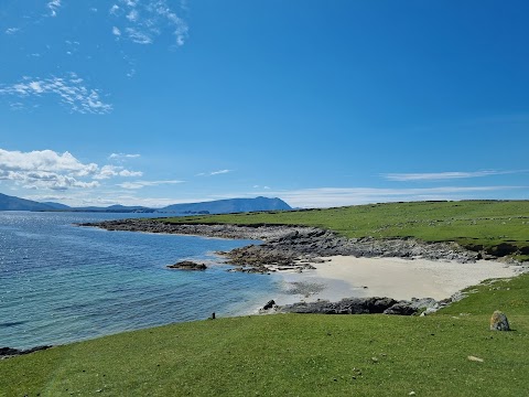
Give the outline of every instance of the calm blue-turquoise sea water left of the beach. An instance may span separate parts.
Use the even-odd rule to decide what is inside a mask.
[[[227,272],[213,254],[255,242],[73,226],[132,216],[0,212],[0,347],[248,313],[280,289],[272,277]],[[212,266],[165,268],[182,259]]]

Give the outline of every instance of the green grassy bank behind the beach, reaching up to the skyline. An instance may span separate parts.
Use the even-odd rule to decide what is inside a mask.
[[[529,201],[385,203],[293,212],[196,215],[174,217],[169,222],[307,225],[332,229],[346,237],[456,242],[494,256],[529,260]]]

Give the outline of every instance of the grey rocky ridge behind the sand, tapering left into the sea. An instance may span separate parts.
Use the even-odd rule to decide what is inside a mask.
[[[355,257],[421,258],[473,262],[481,254],[454,243],[422,243],[413,238],[375,239],[346,238],[331,230],[305,226],[283,225],[205,225],[172,224],[153,219],[121,219],[80,224],[107,230],[168,233],[206,237],[256,239],[262,242],[228,253],[226,257],[237,271],[270,272],[312,268],[320,257],[336,255]]]

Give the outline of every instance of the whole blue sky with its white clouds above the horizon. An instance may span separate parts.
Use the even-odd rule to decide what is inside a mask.
[[[528,18],[526,0],[2,0],[0,193],[529,200]]]

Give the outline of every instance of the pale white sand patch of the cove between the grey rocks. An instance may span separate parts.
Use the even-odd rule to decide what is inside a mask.
[[[401,258],[355,258],[334,256],[315,264],[315,270],[283,273],[285,289],[302,285],[321,285],[321,292],[284,294],[279,304],[296,301],[328,299],[337,301],[350,297],[450,298],[455,292],[490,278],[517,276],[519,267],[497,261],[478,260],[475,264],[433,261]],[[367,288],[365,288],[367,287]]]

